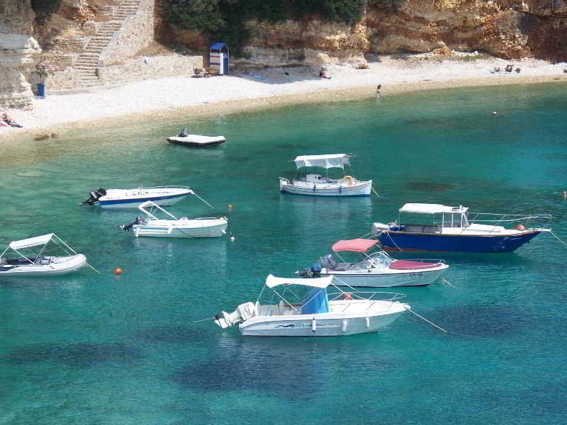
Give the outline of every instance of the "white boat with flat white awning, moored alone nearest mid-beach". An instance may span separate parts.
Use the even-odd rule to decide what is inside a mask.
[[[309,196],[370,196],[372,181],[359,181],[352,176],[344,175],[341,179],[329,177],[329,169],[350,166],[348,154],[330,155],[303,155],[294,160],[298,171],[305,170],[305,175],[295,179],[279,178],[279,190],[281,192],[295,193],[296,195]],[[325,169],[325,176],[308,173],[308,169]],[[352,172],[352,170],[351,170]]]

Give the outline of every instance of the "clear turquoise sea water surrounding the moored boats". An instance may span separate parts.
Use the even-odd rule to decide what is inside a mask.
[[[410,314],[328,339],[192,322],[254,300],[268,273],[293,276],[405,202],[550,213],[567,239],[566,95],[431,91],[3,147],[1,246],[55,232],[102,275],[0,280],[0,424],[562,423],[566,248],[549,234],[513,254],[444,254],[455,288],[399,291],[449,334]],[[228,142],[168,145],[181,127]],[[382,198],[278,192],[296,155],[339,152],[357,154],[354,176]],[[136,239],[118,229],[135,210],[79,207],[99,186],[139,184],[191,185],[214,211],[196,198],[171,211],[226,215],[235,242]]]

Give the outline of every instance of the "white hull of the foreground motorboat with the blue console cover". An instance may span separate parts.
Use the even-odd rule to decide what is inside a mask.
[[[403,311],[369,317],[329,317],[326,314],[315,314],[313,317],[254,317],[265,319],[252,322],[247,320],[239,325],[242,336],[344,336],[376,332],[398,319]],[[315,330],[313,329],[315,328]]]

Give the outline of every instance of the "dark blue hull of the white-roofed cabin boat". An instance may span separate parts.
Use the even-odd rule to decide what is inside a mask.
[[[512,252],[536,237],[541,231],[532,230],[505,235],[449,235],[432,233],[382,232],[379,236],[384,249],[413,251]]]

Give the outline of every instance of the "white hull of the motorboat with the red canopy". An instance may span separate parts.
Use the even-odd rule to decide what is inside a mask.
[[[333,276],[336,286],[352,286],[354,288],[394,288],[400,286],[426,286],[433,283],[449,268],[443,264],[427,271],[410,271],[407,273],[320,273],[321,277]]]

